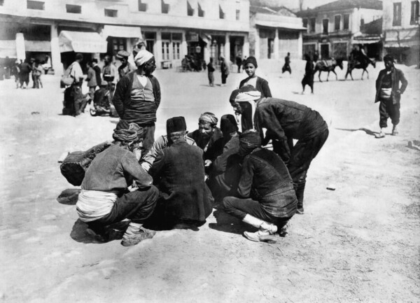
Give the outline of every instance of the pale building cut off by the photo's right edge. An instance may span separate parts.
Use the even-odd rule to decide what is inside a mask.
[[[384,0],[384,48],[398,62],[420,65],[419,1]]]

